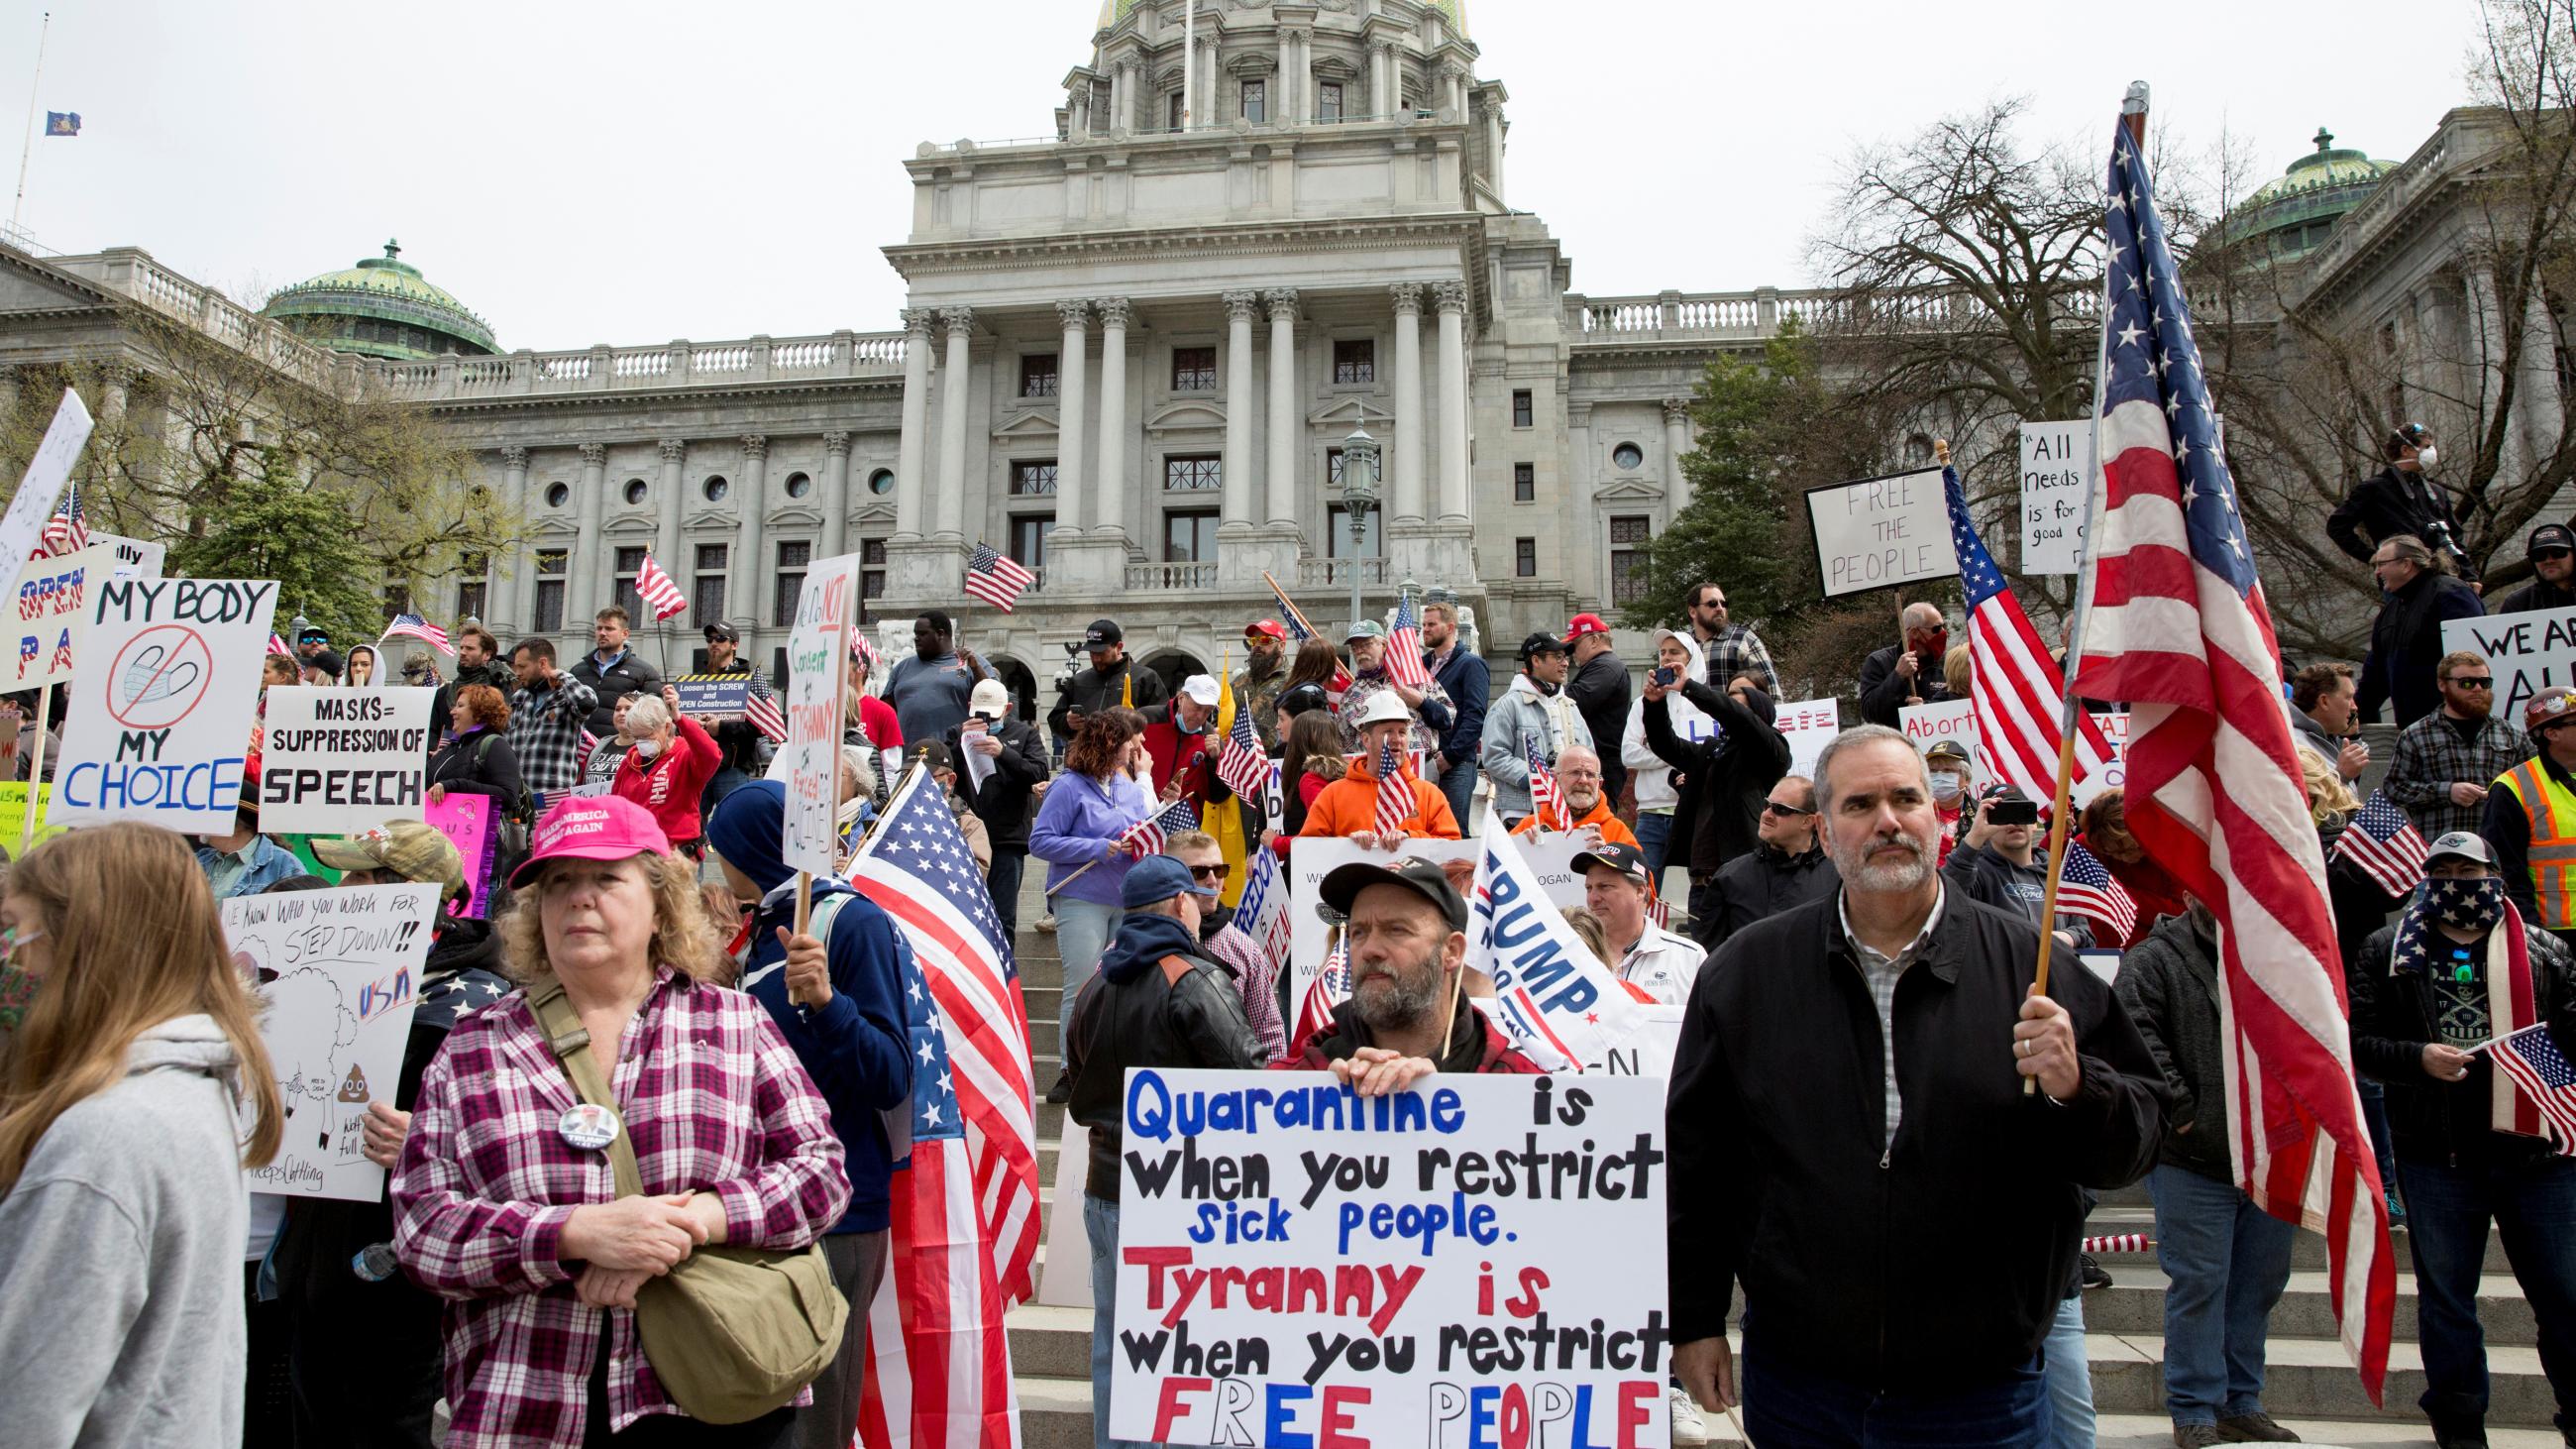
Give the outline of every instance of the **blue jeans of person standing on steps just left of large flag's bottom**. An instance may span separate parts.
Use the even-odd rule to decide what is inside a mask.
[[[2164,1289],[2164,1413],[2174,1426],[2262,1413],[2264,1328],[2290,1287],[2298,1227],[2236,1183],[2156,1163]]]

